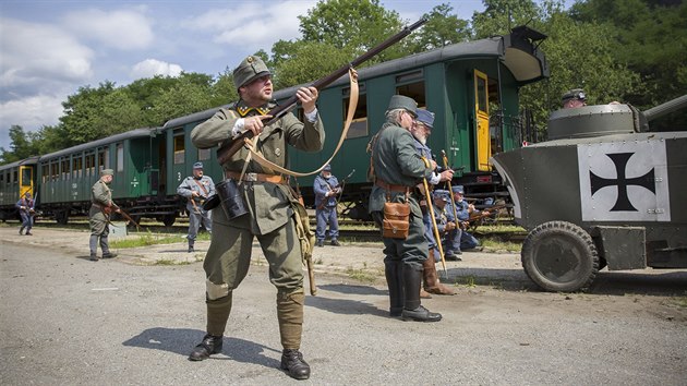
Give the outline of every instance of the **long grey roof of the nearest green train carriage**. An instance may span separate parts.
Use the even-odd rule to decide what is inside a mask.
[[[534,29],[527,26],[518,26],[513,28],[509,35],[449,45],[431,51],[414,53],[408,57],[360,69],[358,71],[358,79],[364,81],[366,79],[408,71],[436,62],[494,58],[501,60],[501,62],[513,73],[515,80],[520,85],[525,85],[549,77],[546,58],[544,53],[538,49],[539,45],[537,44],[537,41],[541,41],[545,38],[546,35]],[[338,81],[334,82],[332,86],[347,83],[348,76],[342,76]],[[296,91],[302,86],[303,85],[297,85],[282,88],[275,92],[274,98],[276,100],[286,99],[293,95]],[[230,105],[221,107],[227,106]],[[177,128],[190,122],[209,119],[218,109],[219,108],[212,108],[190,116],[169,120],[165,123],[164,129]]]

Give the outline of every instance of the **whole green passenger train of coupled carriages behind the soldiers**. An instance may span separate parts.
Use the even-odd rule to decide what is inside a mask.
[[[385,121],[390,97],[402,94],[420,108],[435,112],[427,145],[439,156],[445,150],[449,167],[458,170],[455,184],[466,195],[494,197],[501,180],[490,157],[530,141],[531,128],[523,124],[519,89],[549,76],[544,53],[538,49],[546,36],[528,27],[510,34],[408,56],[360,69],[360,100],[354,121],[341,149],[332,162],[333,172],[346,181],[341,202],[345,215],[367,219],[366,197],[372,183],[366,179],[367,143]],[[282,101],[298,86],[275,93]],[[345,121],[349,83],[341,79],[320,93],[318,111],[325,123],[323,152],[290,152],[289,168],[317,169],[333,154]],[[176,118],[161,128],[136,129],[91,143],[0,167],[0,216],[15,214],[14,203],[29,189],[38,196],[43,216],[67,222],[70,216],[86,214],[91,186],[101,169],[114,170],[113,200],[134,219],[152,217],[167,225],[183,214],[177,186],[203,161],[205,173],[220,181],[221,168],[215,149],[197,149],[190,140],[193,128],[210,118],[208,109]],[[302,114],[297,109],[296,114]],[[441,156],[437,162],[442,165]],[[312,205],[313,177],[297,181],[305,203]],[[296,183],[294,183],[296,184]]]

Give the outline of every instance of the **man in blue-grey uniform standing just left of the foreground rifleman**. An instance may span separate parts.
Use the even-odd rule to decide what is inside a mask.
[[[212,214],[203,208],[207,198],[215,195],[215,183],[209,176],[203,174],[203,162],[193,164],[193,176],[186,177],[177,188],[177,194],[188,200],[189,212],[189,253],[193,252],[193,244],[198,234],[201,224],[208,232],[213,232]]]

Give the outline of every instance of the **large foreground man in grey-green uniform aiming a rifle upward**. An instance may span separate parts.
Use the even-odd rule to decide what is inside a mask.
[[[193,129],[191,138],[196,147],[210,148],[251,131],[257,140],[256,149],[279,166],[287,166],[289,146],[306,152],[322,149],[325,133],[315,106],[316,88],[302,87],[296,94],[303,109],[303,122],[287,113],[265,126],[264,121],[272,118],[266,113],[276,106],[272,73],[265,63],[258,57],[245,58],[233,71],[233,82],[239,101]],[[302,228],[297,226],[297,216],[304,214],[304,208],[299,206],[284,176],[253,159],[245,165],[248,154],[241,148],[222,165],[227,179],[222,184],[231,182],[237,186],[238,200],[246,213],[229,219],[231,213],[225,212],[225,207],[214,210],[213,239],[203,264],[207,277],[207,334],[189,359],[202,361],[221,351],[232,292],[248,274],[253,240],[257,239],[269,263],[269,281],[277,288],[277,318],[284,348],[281,369],[293,378],[306,379],[310,366],[299,351],[305,300],[302,267],[303,249],[312,251],[312,245],[304,246],[299,232]],[[217,184],[220,196],[221,186]]]

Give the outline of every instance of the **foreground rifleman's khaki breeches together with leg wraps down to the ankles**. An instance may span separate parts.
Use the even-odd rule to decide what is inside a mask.
[[[269,281],[277,288],[277,318],[285,349],[298,349],[303,325],[303,265],[296,225],[289,220],[267,233],[215,221],[203,267],[207,276],[207,333],[224,335],[231,312],[231,292],[248,274],[253,239],[257,238],[269,263]]]

